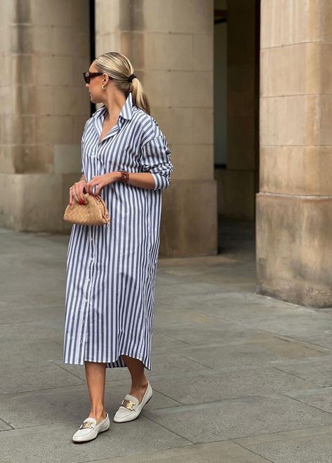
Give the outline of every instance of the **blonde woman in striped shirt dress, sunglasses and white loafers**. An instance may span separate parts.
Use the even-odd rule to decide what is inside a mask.
[[[82,176],[69,204],[100,195],[109,226],[72,226],[67,253],[64,363],[85,365],[91,410],[73,441],[109,429],[105,368],[128,367],[131,390],[114,416],[140,415],[152,388],[154,286],[159,250],[161,190],[170,183],[171,151],[133,66],[105,53],[84,72],[93,103],[103,103],[84,127]]]

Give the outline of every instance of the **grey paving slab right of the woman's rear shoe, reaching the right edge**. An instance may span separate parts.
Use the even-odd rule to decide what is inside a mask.
[[[298,400],[248,397],[149,410],[145,416],[193,443],[332,424],[332,415]]]

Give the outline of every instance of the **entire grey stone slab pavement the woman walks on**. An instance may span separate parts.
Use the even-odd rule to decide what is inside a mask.
[[[331,309],[255,294],[253,227],[218,256],[159,259],[154,396],[134,422],[72,443],[84,365],[62,363],[67,236],[0,230],[0,462],[332,462]],[[107,369],[105,407],[128,393]]]

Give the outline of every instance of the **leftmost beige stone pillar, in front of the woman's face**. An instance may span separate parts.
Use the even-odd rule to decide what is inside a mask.
[[[0,2],[0,221],[68,229],[68,188],[81,176],[90,100],[88,0]]]

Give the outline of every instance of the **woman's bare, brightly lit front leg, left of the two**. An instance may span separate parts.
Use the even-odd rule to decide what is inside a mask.
[[[97,423],[99,423],[106,418],[104,408],[106,363],[88,362],[84,360],[84,365],[86,368],[88,393],[91,401],[91,412],[88,416],[95,418]]]

